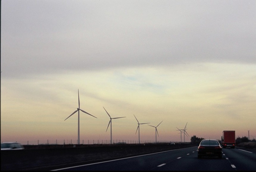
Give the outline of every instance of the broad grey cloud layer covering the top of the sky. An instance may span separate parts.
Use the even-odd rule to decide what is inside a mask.
[[[253,6],[254,1],[3,1],[1,68],[14,77],[255,63]]]

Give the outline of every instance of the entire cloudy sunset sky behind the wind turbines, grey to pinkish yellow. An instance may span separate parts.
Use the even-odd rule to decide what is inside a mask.
[[[76,143],[78,89],[80,143],[256,138],[256,1],[2,0],[1,142]]]

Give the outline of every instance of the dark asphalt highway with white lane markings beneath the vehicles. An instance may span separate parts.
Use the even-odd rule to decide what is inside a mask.
[[[222,159],[197,158],[197,147],[134,156],[52,171],[255,171],[256,150],[222,149]]]

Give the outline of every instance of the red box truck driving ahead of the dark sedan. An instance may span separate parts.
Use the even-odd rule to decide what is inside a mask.
[[[235,148],[236,138],[235,131],[223,131],[221,137],[221,146],[223,148],[230,147]]]

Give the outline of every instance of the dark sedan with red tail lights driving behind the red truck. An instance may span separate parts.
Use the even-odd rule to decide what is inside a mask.
[[[214,139],[205,139],[202,140],[197,148],[197,157],[202,158],[202,156],[207,157],[218,157],[222,158],[222,147],[218,140]]]

